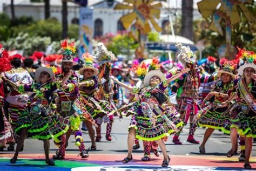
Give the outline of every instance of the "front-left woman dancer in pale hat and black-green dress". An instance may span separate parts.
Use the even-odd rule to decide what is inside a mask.
[[[10,160],[11,163],[16,163],[18,153],[24,144],[27,137],[43,140],[45,162],[48,165],[55,165],[55,162],[50,160],[50,141],[53,138],[58,140],[58,136],[65,134],[68,131],[68,125],[57,120],[55,113],[52,111],[53,92],[57,90],[58,83],[55,82],[54,73],[47,67],[39,67],[35,72],[36,84],[32,85],[16,85],[13,83],[19,92],[32,92],[30,95],[31,104],[27,106],[24,112],[17,120],[15,129],[19,135],[16,152]],[[65,84],[65,81],[60,85]]]

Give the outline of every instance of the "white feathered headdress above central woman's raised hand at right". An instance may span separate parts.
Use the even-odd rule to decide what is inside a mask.
[[[183,46],[183,44],[179,43],[176,44],[176,47],[180,50],[180,53],[178,55],[178,60],[184,65],[184,66],[192,66],[194,63],[196,63],[196,55],[190,50],[189,46]]]

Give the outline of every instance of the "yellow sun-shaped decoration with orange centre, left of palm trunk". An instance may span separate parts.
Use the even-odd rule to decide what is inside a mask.
[[[114,10],[132,10],[120,18],[125,29],[134,23],[140,33],[147,34],[151,31],[150,23],[156,31],[161,32],[160,26],[155,18],[160,18],[161,3],[153,0],[125,0],[122,4],[117,4]]]

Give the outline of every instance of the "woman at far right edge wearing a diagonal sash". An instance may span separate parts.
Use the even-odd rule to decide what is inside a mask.
[[[241,79],[238,82],[236,93],[223,103],[223,106],[232,105],[232,101],[237,99],[231,107],[231,144],[232,148],[227,156],[231,157],[237,147],[237,133],[245,137],[245,164],[247,169],[250,165],[252,152],[252,141],[256,138],[256,55],[253,52],[239,49],[238,54],[245,61],[244,65],[238,69]]]

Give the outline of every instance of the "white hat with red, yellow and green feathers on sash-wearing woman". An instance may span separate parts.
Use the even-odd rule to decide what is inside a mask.
[[[244,70],[247,67],[251,67],[254,69],[254,71],[256,71],[256,54],[254,54],[252,51],[246,51],[240,48],[238,48],[238,50],[239,51],[236,58],[241,58],[244,61],[244,64],[241,65],[238,69],[238,74],[242,76],[242,74],[244,74]]]

